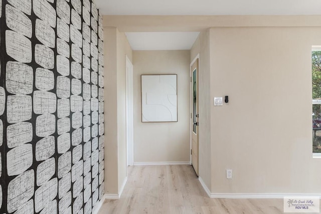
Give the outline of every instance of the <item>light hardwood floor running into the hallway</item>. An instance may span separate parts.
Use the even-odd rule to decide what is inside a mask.
[[[283,213],[283,199],[209,198],[189,165],[131,166],[118,200],[106,199],[106,213]]]

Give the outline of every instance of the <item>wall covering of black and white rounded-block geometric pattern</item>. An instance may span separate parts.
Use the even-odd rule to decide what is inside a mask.
[[[0,0],[0,213],[102,198],[102,40],[92,0]]]

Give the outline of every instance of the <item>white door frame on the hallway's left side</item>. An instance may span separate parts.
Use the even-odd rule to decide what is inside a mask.
[[[126,170],[127,166],[134,163],[133,83],[133,65],[126,55]],[[128,103],[128,96],[131,96],[131,105]]]

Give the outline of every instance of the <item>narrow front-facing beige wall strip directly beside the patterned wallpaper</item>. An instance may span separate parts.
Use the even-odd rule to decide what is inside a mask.
[[[105,193],[118,193],[116,28],[104,28]],[[108,78],[107,78],[108,77]]]

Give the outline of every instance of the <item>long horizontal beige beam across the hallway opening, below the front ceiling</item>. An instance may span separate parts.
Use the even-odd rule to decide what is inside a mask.
[[[226,27],[319,27],[314,16],[104,16],[104,27],[117,27],[120,32],[201,32]]]

